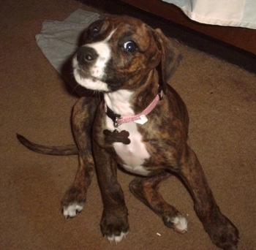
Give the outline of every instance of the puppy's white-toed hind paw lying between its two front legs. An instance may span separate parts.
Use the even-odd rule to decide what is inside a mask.
[[[173,228],[178,233],[187,232],[187,219],[181,214],[173,217],[165,216],[163,217],[163,221],[165,226]]]

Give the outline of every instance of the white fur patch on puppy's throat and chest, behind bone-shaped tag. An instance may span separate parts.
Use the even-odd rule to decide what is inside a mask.
[[[129,105],[129,99],[132,96],[132,91],[120,90],[113,93],[105,94],[105,102],[108,107],[117,114],[121,115],[135,115],[134,111]],[[106,126],[113,131],[113,121],[106,116]],[[138,132],[137,124],[129,122],[121,124],[118,131],[127,130],[129,132],[129,139],[131,143],[124,145],[123,143],[113,143],[116,154],[123,160],[125,170],[138,175],[148,175],[150,172],[142,165],[146,159],[150,157],[143,143],[143,137]]]

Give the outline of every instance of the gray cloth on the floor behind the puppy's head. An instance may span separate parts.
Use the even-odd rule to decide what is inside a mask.
[[[42,23],[41,33],[36,35],[37,45],[60,74],[65,62],[78,48],[81,33],[97,19],[98,13],[76,10],[63,22],[45,20]]]

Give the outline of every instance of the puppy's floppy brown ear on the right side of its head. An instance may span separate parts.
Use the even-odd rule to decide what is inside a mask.
[[[176,67],[178,67],[179,62],[181,61],[181,54],[175,47],[173,47],[170,39],[165,37],[165,34],[163,34],[160,29],[154,30],[154,39],[162,53],[160,63],[162,83],[159,84],[162,85],[162,89],[165,92],[170,77],[173,75],[173,72],[175,72]]]

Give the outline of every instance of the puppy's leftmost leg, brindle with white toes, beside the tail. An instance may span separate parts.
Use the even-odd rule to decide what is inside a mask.
[[[94,175],[94,159],[91,151],[91,129],[99,99],[82,97],[72,112],[72,129],[78,146],[78,172],[75,181],[61,201],[65,217],[74,217],[83,210],[86,194]]]

